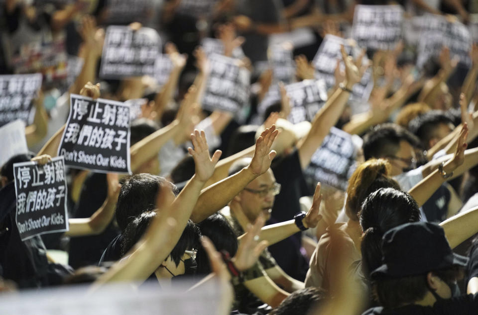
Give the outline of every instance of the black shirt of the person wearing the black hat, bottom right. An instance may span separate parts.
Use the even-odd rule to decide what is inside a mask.
[[[367,310],[362,315],[476,315],[478,294],[463,295],[436,302],[433,306],[407,305],[394,310],[382,307]]]

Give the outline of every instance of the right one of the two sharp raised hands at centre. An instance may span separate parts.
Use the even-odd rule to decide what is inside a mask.
[[[276,156],[274,150],[270,151],[270,147],[275,138],[279,134],[279,131],[275,128],[275,125],[264,130],[259,138],[255,142],[255,151],[252,160],[247,166],[254,175],[259,176],[267,171],[270,167],[270,163]]]

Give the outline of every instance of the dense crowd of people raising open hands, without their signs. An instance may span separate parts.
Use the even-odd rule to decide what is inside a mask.
[[[290,119],[287,89],[321,80],[314,56],[326,36],[351,38],[359,4],[398,6],[404,24],[435,14],[472,29],[476,3],[0,1],[0,74],[43,78],[24,128],[29,153],[0,165],[1,294],[86,284],[91,295],[126,282],[134,295],[146,281],[164,291],[187,279],[191,292],[221,287],[210,314],[478,314],[473,39],[468,62],[441,45],[424,65],[406,34],[389,50],[349,40],[357,53],[340,46],[334,84],[310,121]],[[158,32],[170,65],[163,82],[102,77],[110,25]],[[215,70],[205,38],[250,73],[241,118],[202,106]],[[293,56],[290,81],[278,79],[273,45]],[[367,73],[373,87],[358,104]],[[128,125],[130,174],[66,163],[67,231],[25,239],[14,165],[59,156],[75,94],[140,101]],[[337,129],[359,140],[345,189],[308,171]]]

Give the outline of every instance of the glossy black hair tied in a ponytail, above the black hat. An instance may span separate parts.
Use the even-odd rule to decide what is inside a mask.
[[[363,202],[359,213],[364,234],[361,240],[362,269],[368,278],[381,265],[382,236],[399,225],[420,221],[417,202],[408,193],[394,188],[380,188]]]

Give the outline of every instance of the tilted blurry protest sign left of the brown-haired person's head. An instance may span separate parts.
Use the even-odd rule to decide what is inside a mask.
[[[332,127],[321,147],[312,156],[304,176],[347,190],[348,180],[356,169],[357,149],[351,135]]]

